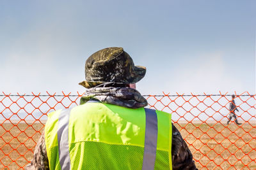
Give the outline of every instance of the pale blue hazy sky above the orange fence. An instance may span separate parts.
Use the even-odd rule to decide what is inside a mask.
[[[83,92],[84,62],[122,46],[141,94],[255,93],[256,1],[0,1],[0,91]]]

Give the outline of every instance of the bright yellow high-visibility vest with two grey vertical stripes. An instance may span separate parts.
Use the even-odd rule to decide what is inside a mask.
[[[50,169],[172,169],[171,114],[85,103],[49,114]]]

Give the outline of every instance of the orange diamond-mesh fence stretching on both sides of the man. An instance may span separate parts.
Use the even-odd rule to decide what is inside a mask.
[[[236,94],[237,125],[227,125],[231,95],[144,96],[148,108],[172,113],[199,169],[256,169],[255,94]],[[0,168],[24,169],[47,113],[72,108],[83,94],[0,94]]]

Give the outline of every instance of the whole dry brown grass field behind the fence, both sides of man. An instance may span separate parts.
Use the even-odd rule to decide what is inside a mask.
[[[256,169],[256,128],[245,123],[174,124],[198,169]],[[44,124],[0,124],[0,169],[20,169],[31,160]]]

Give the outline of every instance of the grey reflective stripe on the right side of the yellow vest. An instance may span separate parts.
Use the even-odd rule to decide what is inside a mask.
[[[157,146],[157,115],[156,110],[145,108],[146,114],[146,130],[145,130],[145,146],[143,155],[143,170],[154,169],[156,161]]]

